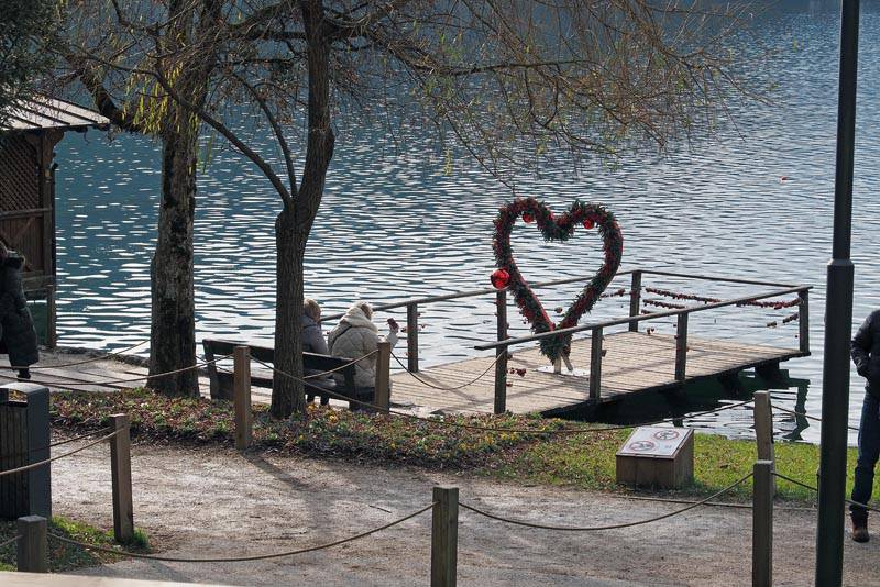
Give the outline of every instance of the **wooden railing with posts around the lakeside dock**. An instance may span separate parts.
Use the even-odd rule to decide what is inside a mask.
[[[444,294],[440,296],[426,296],[421,298],[413,298],[403,301],[395,301],[391,303],[376,304],[373,307],[374,311],[388,311],[406,308],[407,313],[407,370],[418,373],[419,370],[419,307],[437,303],[442,301],[451,301],[462,298],[473,298],[487,295],[495,296],[496,306],[496,333],[495,341],[477,344],[474,346],[477,351],[495,351],[495,402],[494,412],[503,413],[506,410],[506,396],[507,396],[507,355],[512,346],[526,344],[530,342],[539,342],[552,336],[579,334],[590,332],[592,339],[591,358],[590,358],[590,399],[598,400],[602,392],[602,358],[603,348],[602,341],[606,329],[628,324],[630,332],[638,332],[639,324],[650,320],[661,320],[675,317],[676,336],[675,336],[675,380],[684,383],[688,373],[688,322],[689,317],[695,312],[706,312],[710,310],[717,310],[732,306],[748,306],[751,302],[766,300],[769,298],[778,298],[795,294],[798,296],[798,321],[799,321],[799,351],[801,355],[810,354],[810,290],[812,286],[780,284],[773,281],[763,281],[757,279],[739,279],[732,277],[719,277],[710,275],[696,275],[676,272],[667,272],[660,269],[628,269],[618,272],[616,277],[630,275],[630,289],[629,289],[629,315],[595,322],[590,324],[581,324],[568,329],[560,329],[540,334],[531,334],[528,336],[520,336],[516,339],[508,337],[507,335],[507,288],[483,288],[466,291],[457,291],[452,294]],[[659,277],[673,277],[692,279],[700,281],[712,281],[718,284],[732,285],[748,285],[761,286],[771,288],[767,291],[752,294],[749,296],[736,297],[725,300],[710,301],[696,306],[688,306],[684,308],[674,308],[661,311],[642,312],[641,291],[642,278],[647,275]],[[552,286],[568,285],[582,283],[592,278],[592,275],[571,277],[565,279],[557,279],[552,281],[542,281],[532,284],[532,289],[541,289]],[[342,313],[331,314],[324,320],[338,320],[342,318]]]

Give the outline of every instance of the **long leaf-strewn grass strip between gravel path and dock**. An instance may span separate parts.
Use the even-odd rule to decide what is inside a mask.
[[[144,389],[118,394],[53,394],[53,423],[74,431],[109,424],[108,414],[125,412],[132,435],[144,442],[233,444],[232,405],[198,398],[167,398]],[[506,429],[485,432],[432,425],[388,414],[351,412],[309,405],[304,414],[274,420],[267,406],[254,406],[254,450],[318,457],[344,457],[378,464],[411,464],[435,469],[469,469],[498,479],[571,486],[590,490],[631,492],[615,481],[615,453],[631,429],[587,434],[524,434],[515,429],[552,431],[603,425],[543,419],[537,416],[454,416],[448,421]],[[815,486],[818,446],[793,442],[776,445],[777,469]],[[695,434],[692,487],[662,495],[708,496],[751,472],[757,458],[751,441],[716,434]],[[855,450],[849,451],[848,489],[853,485]],[[779,496],[814,503],[815,494],[779,480]],[[640,489],[639,492],[645,492]],[[875,481],[880,496],[880,476]],[[751,483],[726,499],[748,500]]]

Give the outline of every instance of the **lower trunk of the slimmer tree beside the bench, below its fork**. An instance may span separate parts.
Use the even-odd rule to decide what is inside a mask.
[[[302,379],[302,299],[305,234],[296,214],[285,208],[275,220],[277,287],[275,290],[275,373],[271,413],[287,418],[306,409]],[[289,374],[293,377],[284,374]]]

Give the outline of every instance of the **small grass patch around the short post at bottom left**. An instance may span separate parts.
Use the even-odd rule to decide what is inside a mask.
[[[94,546],[106,549],[118,547],[119,544],[113,540],[112,531],[105,531],[84,522],[70,520],[59,516],[52,518],[48,524],[48,532],[58,534],[77,542],[84,542]],[[13,521],[0,521],[0,543],[14,538],[18,534],[18,523]],[[132,552],[150,552],[150,543],[146,534],[142,530],[135,531],[135,541],[127,544],[125,549]],[[0,549],[0,571],[15,571],[15,543]],[[106,563],[121,561],[121,556],[114,554],[89,551],[81,546],[65,544],[57,540],[48,539],[48,566],[53,573],[63,573],[75,568],[97,566]]]

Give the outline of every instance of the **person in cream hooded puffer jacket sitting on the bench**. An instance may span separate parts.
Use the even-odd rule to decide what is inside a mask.
[[[373,307],[365,301],[356,301],[349,308],[339,325],[327,335],[330,343],[330,354],[344,358],[360,358],[373,353],[378,347],[378,329],[372,321]],[[397,323],[388,320],[388,334],[386,341],[392,343],[392,348],[397,344]],[[354,386],[358,388],[358,399],[372,400],[376,387],[376,355],[366,356],[354,364]],[[337,386],[344,386],[341,375],[334,375]]]

